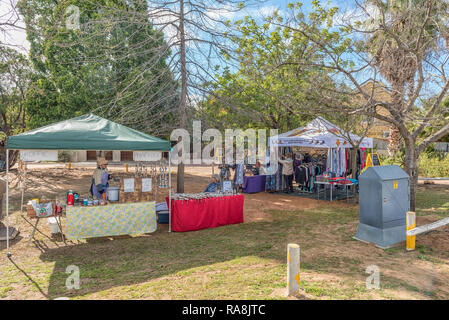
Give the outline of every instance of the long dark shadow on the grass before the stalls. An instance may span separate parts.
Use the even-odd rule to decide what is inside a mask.
[[[335,211],[330,208],[330,211]],[[289,242],[304,243],[314,237],[306,225],[335,219],[332,214],[313,212],[272,212],[273,222],[251,222],[186,233],[168,233],[166,225],[150,235],[101,238],[89,242],[49,249],[40,259],[55,262],[48,296],[82,296],[112,287],[127,286],[192,268],[256,256],[285,263]],[[353,212],[340,219],[354,219]],[[319,240],[318,240],[319,241]],[[304,244],[302,247],[307,247]],[[66,268],[80,270],[79,290],[67,290]]]

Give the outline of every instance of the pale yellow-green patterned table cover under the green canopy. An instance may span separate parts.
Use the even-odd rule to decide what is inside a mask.
[[[155,206],[154,201],[67,206],[66,236],[77,240],[154,232],[157,228]]]

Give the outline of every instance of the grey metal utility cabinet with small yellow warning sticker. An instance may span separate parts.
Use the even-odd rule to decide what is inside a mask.
[[[369,167],[359,177],[356,239],[388,248],[405,241],[410,178],[399,166]]]

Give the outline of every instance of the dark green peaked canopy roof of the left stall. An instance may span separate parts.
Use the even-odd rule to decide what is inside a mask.
[[[170,151],[162,140],[94,114],[87,114],[6,139],[15,150]]]

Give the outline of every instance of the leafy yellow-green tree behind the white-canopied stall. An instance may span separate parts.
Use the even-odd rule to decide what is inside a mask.
[[[314,68],[295,68],[290,61],[307,55],[309,43],[298,34],[273,27],[270,19],[259,24],[245,17],[236,22],[238,70],[225,70],[211,85],[212,92],[201,104],[203,116],[223,127],[277,128],[291,130],[314,115],[299,112],[313,105],[307,91],[310,77],[324,77]],[[310,60],[318,59],[310,56]],[[208,84],[206,84],[208,85]]]

